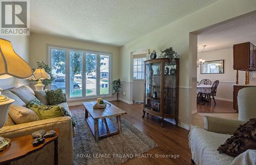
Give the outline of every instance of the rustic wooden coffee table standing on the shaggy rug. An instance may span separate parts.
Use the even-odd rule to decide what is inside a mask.
[[[115,105],[108,103],[104,109],[93,109],[96,102],[82,103],[86,108],[85,120],[90,127],[95,141],[109,137],[121,132],[121,115],[126,112]],[[90,116],[88,116],[90,114]],[[112,122],[109,118],[116,117],[116,122]]]

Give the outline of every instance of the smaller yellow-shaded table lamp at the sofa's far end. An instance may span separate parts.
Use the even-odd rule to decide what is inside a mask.
[[[44,84],[42,84],[41,80],[44,79],[50,79],[50,75],[46,73],[45,69],[43,68],[37,68],[34,72],[34,80],[38,80],[37,84],[35,86],[35,90],[40,91],[44,89]]]

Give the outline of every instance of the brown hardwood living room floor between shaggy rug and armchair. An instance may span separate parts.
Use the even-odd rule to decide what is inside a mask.
[[[165,122],[164,128],[160,127],[161,120],[153,115],[146,114],[144,119],[141,117],[143,104],[126,104],[122,101],[111,101],[112,104],[123,109],[127,114],[122,115],[122,119],[131,123],[141,132],[152,138],[159,147],[148,151],[148,154],[176,154],[179,158],[134,158],[125,164],[190,164],[191,153],[188,147],[189,131],[175,127]],[[83,106],[70,107],[71,112],[84,112]]]

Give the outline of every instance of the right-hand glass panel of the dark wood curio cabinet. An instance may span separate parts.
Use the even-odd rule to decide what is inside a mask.
[[[176,113],[176,78],[177,65],[176,62],[164,63],[164,114]]]

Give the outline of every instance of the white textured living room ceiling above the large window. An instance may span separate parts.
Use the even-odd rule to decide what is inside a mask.
[[[124,45],[217,0],[33,0],[32,33]]]

